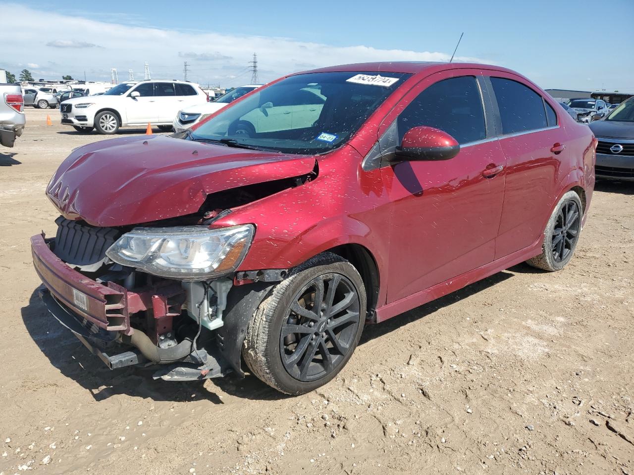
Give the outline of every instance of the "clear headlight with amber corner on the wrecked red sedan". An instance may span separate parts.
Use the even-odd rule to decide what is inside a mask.
[[[236,270],[249,250],[254,231],[252,224],[221,229],[138,227],[121,236],[106,255],[154,276],[204,281]]]

